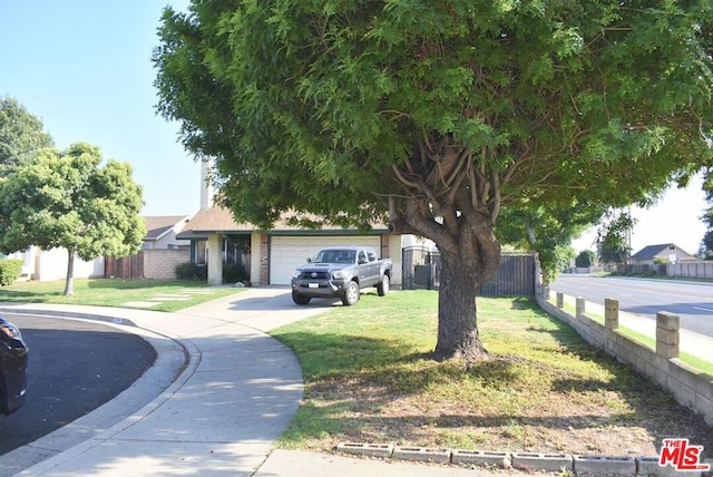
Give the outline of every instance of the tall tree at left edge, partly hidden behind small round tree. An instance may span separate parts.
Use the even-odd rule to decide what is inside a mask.
[[[0,176],[18,164],[27,163],[52,138],[42,121],[11,97],[0,98]]]

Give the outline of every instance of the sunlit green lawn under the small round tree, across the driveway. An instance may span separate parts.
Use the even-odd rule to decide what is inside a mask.
[[[18,282],[0,288],[0,302],[123,306],[127,302],[148,302],[159,300],[160,296],[188,294],[188,300],[166,300],[154,306],[136,306],[155,311],[178,311],[208,300],[237,293],[241,290],[244,289],[208,288],[206,282],[186,280],[79,279],[75,280],[75,293],[71,296],[64,295],[64,280]]]

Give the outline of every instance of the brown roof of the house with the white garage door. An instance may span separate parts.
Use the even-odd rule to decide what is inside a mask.
[[[205,237],[209,233],[251,233],[260,231],[261,228],[247,222],[236,222],[233,217],[233,213],[224,207],[215,205],[211,208],[202,208],[196,215],[191,218],[191,222],[184,227],[184,230],[176,235],[178,238],[195,238]],[[374,224],[373,231],[387,231],[388,228],[382,224]],[[372,231],[372,233],[373,233]],[[324,233],[324,232],[350,232],[354,233],[356,230],[344,230],[339,227],[325,226],[319,230],[301,228],[294,225],[287,224],[286,220],[277,221],[270,232],[284,232],[284,233]]]

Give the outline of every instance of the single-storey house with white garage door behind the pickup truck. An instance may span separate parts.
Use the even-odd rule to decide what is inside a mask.
[[[208,284],[222,284],[223,263],[242,261],[253,285],[289,285],[295,267],[306,263],[329,245],[365,245],[381,257],[393,261],[392,284],[401,284],[401,236],[385,226],[370,232],[324,227],[305,230],[276,223],[263,231],[247,223],[236,223],[232,213],[219,206],[204,207],[177,235],[191,242],[191,259],[208,267]]]

